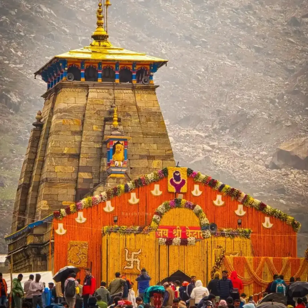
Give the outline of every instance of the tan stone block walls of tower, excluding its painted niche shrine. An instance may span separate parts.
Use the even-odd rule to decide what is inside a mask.
[[[43,126],[31,132],[14,205],[13,232],[85,195],[175,165],[156,87],[66,81],[43,95]],[[128,173],[122,179],[108,178],[106,172],[103,137],[111,125],[112,104],[124,135],[130,138]]]

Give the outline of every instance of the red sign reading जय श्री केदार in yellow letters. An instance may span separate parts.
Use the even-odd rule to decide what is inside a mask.
[[[183,227],[183,226],[159,226],[155,236],[160,238],[188,238],[195,237],[203,239],[200,227]]]

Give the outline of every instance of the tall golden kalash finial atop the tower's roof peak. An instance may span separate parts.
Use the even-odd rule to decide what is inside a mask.
[[[104,3],[104,6],[106,6],[106,17],[107,17],[107,10],[108,6],[110,6],[109,0]],[[91,43],[90,46],[95,46],[95,47],[109,47],[112,46],[108,42],[108,37],[109,35],[107,34],[105,28],[104,28],[104,15],[103,15],[103,5],[102,5],[102,0],[99,0],[98,3],[98,9],[96,11],[96,30],[93,32],[91,38],[94,39],[94,41]],[[106,22],[107,24],[107,22]]]

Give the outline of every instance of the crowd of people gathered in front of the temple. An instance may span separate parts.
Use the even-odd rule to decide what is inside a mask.
[[[22,274],[13,279],[12,299],[15,308],[155,308],[149,303],[144,303],[145,292],[150,287],[151,277],[145,268],[141,270],[136,278],[137,294],[133,290],[134,283],[122,276],[120,272],[115,273],[115,278],[109,283],[102,281],[98,289],[95,288],[95,278],[90,269],[85,269],[83,284],[76,279],[75,272],[70,272],[61,282],[49,282],[48,287],[41,282],[41,275],[30,275],[22,287]],[[262,294],[262,298],[270,293],[281,293],[286,296],[288,308],[308,308],[307,298],[290,298],[288,289],[300,278],[290,278],[287,285],[284,277],[273,276]],[[1,302],[0,308],[6,307],[7,284],[0,273]],[[229,277],[227,270],[222,271],[222,277],[216,272],[214,278],[207,287],[203,286],[201,280],[192,276],[190,282],[165,282],[160,287],[161,302],[156,308],[255,308],[257,303],[253,297],[247,297],[242,293],[244,287],[236,271]],[[147,295],[148,296],[148,295]]]

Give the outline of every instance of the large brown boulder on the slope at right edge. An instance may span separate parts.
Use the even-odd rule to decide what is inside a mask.
[[[296,138],[282,143],[273,155],[278,168],[308,170],[308,138]]]

